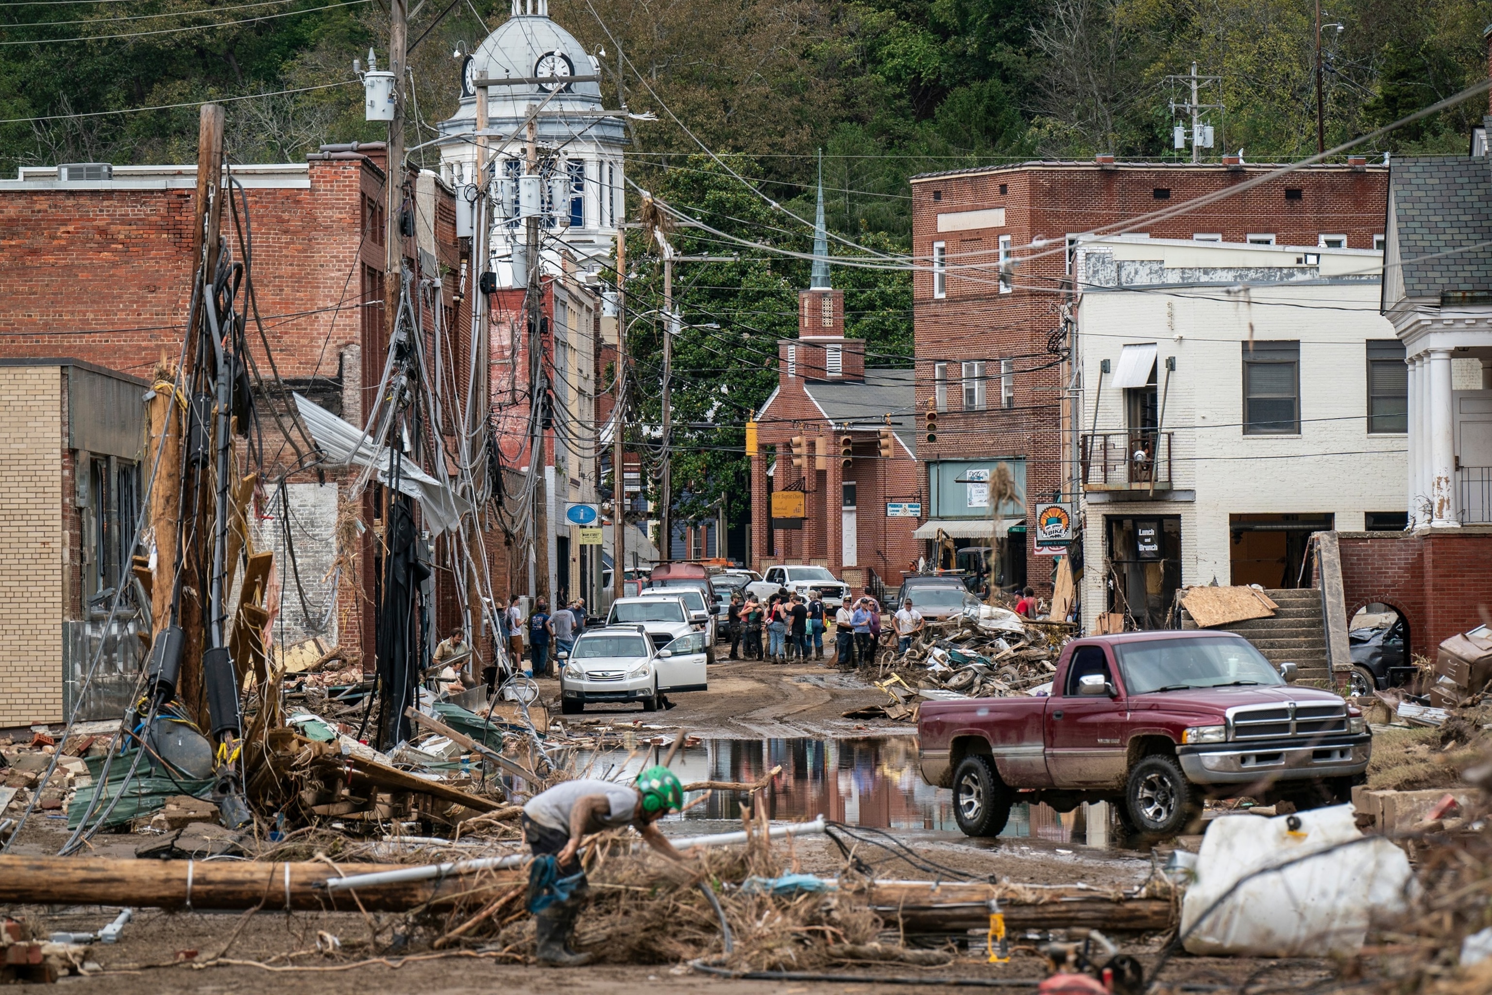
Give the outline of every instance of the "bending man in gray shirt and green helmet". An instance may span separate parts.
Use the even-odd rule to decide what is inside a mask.
[[[565,615],[565,613],[561,613]],[[586,898],[585,868],[577,859],[580,840],[601,829],[630,825],[648,846],[676,861],[683,859],[653,825],[683,807],[683,785],[667,767],[649,767],[634,785],[577,779],[560,782],[524,806],[524,840],[534,858],[528,876],[528,910],[534,914],[539,961],[557,967],[589,964],[591,955],[570,949],[574,920]],[[558,880],[542,880],[552,867]]]

